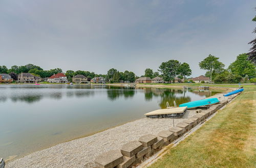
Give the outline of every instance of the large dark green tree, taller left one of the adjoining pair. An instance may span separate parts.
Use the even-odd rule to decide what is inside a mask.
[[[163,79],[165,81],[171,81],[174,79],[176,75],[179,73],[180,62],[177,60],[169,60],[167,62],[163,62],[159,66],[159,70],[162,73]]]

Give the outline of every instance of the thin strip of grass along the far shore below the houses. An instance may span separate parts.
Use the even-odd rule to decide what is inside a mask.
[[[138,83],[139,85],[163,85],[163,86],[187,86],[187,87],[199,87],[199,86],[206,86],[206,87],[221,87],[221,88],[238,88],[238,84],[236,83],[225,83],[225,84],[210,84],[210,83]],[[242,83],[241,87],[244,88],[256,88],[254,83]]]

